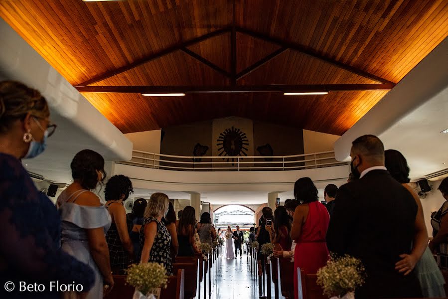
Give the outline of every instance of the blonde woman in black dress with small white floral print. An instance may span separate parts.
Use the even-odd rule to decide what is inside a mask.
[[[140,262],[163,264],[166,275],[172,275],[171,236],[161,222],[168,210],[168,204],[168,196],[163,193],[154,193],[149,198],[145,220],[140,230],[140,247],[142,247]]]

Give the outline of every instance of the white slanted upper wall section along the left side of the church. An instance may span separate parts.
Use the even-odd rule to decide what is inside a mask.
[[[93,149],[106,160],[131,159],[132,143],[0,19],[0,80],[11,79],[39,90],[58,126],[45,152],[24,160],[29,171],[51,181],[68,182],[70,161],[81,149]]]

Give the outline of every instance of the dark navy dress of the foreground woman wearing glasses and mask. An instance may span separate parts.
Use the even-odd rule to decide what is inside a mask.
[[[0,298],[59,299],[58,292],[49,291],[50,281],[74,281],[86,291],[94,285],[91,267],[61,249],[61,219],[54,204],[36,189],[22,163],[5,153],[0,153],[0,215],[0,281],[45,285],[44,292],[19,292],[17,284],[14,291],[6,292],[1,285]],[[13,246],[5,240],[14,240]],[[30,254],[38,258],[26,258]]]

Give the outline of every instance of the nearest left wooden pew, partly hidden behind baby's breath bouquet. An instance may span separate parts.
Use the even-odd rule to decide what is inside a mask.
[[[184,270],[175,272],[176,276],[169,276],[167,288],[161,289],[160,299],[184,299],[185,277]],[[135,288],[126,284],[126,275],[114,275],[114,288],[105,299],[132,299]]]

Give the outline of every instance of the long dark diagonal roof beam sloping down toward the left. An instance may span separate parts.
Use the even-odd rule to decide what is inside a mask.
[[[191,46],[191,45],[193,45],[195,43],[198,43],[198,42],[204,41],[206,39],[209,39],[211,37],[218,36],[218,35],[224,34],[226,32],[229,32],[230,30],[231,30],[230,27],[218,29],[218,30],[212,31],[210,33],[204,34],[202,36],[190,39],[188,41],[175,44],[175,45],[173,45],[171,47],[168,47],[166,49],[158,51],[158,52],[156,52],[154,54],[151,54],[149,56],[146,56],[146,57],[143,57],[141,59],[138,59],[138,60],[134,61],[133,63],[124,65],[124,66],[119,67],[119,68],[117,68],[115,70],[108,71],[106,73],[103,73],[103,74],[95,77],[95,78],[87,80],[86,82],[82,82],[80,84],[77,84],[77,86],[87,86],[87,85],[91,85],[91,84],[103,81],[105,79],[108,79],[108,78],[113,77],[115,75],[118,75],[120,73],[129,71],[130,69],[138,67],[138,66],[140,66],[142,64],[148,63],[149,61],[152,61],[154,59],[160,58],[162,56],[168,55],[168,54],[170,54],[172,52],[175,52],[175,51],[178,51],[178,50],[182,50],[183,48]]]

